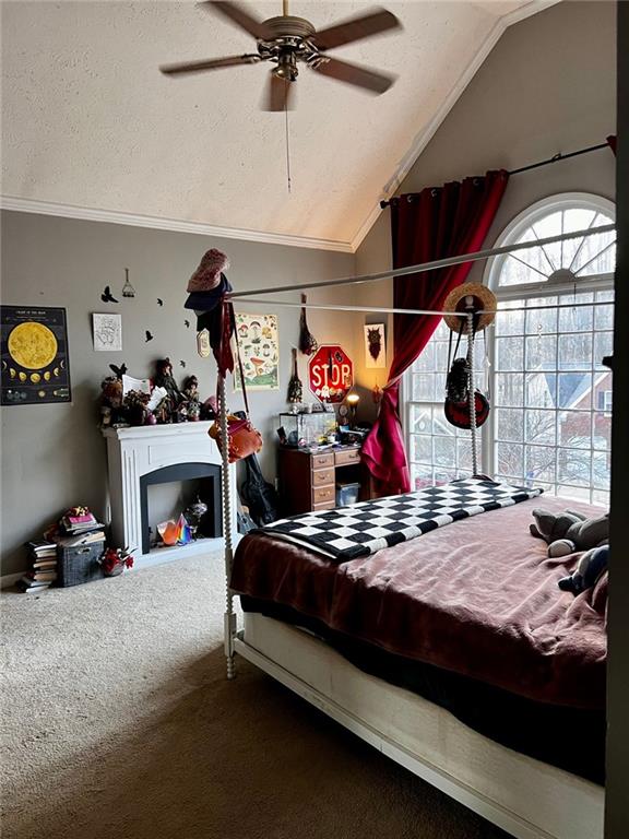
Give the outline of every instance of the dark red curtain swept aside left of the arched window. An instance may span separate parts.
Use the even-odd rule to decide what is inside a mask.
[[[507,187],[505,170],[426,188],[391,202],[393,268],[479,250]],[[393,280],[393,306],[439,310],[449,292],[463,283],[472,262],[408,274]],[[400,380],[439,324],[436,315],[395,315],[393,362],[382,392],[380,412],[363,447],[377,495],[411,489],[411,475],[400,417]]]

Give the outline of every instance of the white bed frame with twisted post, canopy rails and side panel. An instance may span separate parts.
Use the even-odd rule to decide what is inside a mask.
[[[273,292],[360,284],[419,273],[435,268],[487,259],[499,253],[613,231],[607,225],[520,243],[436,262],[366,276],[234,292],[228,299]],[[274,302],[277,305],[298,305]],[[302,304],[299,304],[302,305]],[[572,305],[572,304],[570,304]],[[577,304],[578,305],[578,304]],[[321,308],[321,307],[319,307]],[[333,307],[330,307],[333,308]],[[346,307],[361,310],[360,307]],[[384,309],[381,309],[384,311]],[[397,310],[443,315],[442,311]],[[450,312],[461,315],[461,312]],[[477,312],[483,314],[483,312]],[[470,324],[470,312],[467,317]],[[470,392],[474,392],[473,382]],[[221,437],[228,439],[225,378],[218,375]],[[472,402],[473,405],[473,402]],[[475,418],[473,407],[471,418]],[[229,463],[223,447],[223,521],[232,522]],[[595,783],[501,746],[459,722],[442,708],[415,694],[369,676],[310,634],[261,615],[245,616],[238,631],[229,589],[234,537],[225,528],[225,655],[234,678],[235,654],[252,662],[304,699],[324,711],[382,754],[447,795],[507,830],[517,839],[602,839],[605,791]],[[514,721],[517,724],[517,721]]]

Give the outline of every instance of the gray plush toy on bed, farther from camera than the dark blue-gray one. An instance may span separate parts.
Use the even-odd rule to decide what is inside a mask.
[[[581,512],[566,510],[554,513],[536,508],[531,533],[548,544],[548,556],[566,556],[574,551],[589,551],[605,544],[609,537],[609,517],[588,519]]]

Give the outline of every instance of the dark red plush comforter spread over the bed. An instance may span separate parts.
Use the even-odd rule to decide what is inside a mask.
[[[577,598],[559,590],[580,554],[548,559],[529,532],[537,506],[600,515],[542,496],[342,565],[251,534],[232,587],[537,701],[603,709],[607,579]]]

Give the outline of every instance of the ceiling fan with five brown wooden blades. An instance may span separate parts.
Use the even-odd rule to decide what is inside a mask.
[[[257,20],[241,5],[228,0],[203,2],[200,5],[210,11],[218,12],[232,23],[253,35],[258,51],[244,56],[164,64],[159,70],[166,75],[183,75],[205,70],[218,70],[224,67],[271,61],[275,67],[269,76],[264,110],[286,110],[288,108],[292,94],[290,82],[297,81],[299,62],[307,64],[321,75],[354,84],[376,94],[384,93],[395,81],[392,75],[348,61],[341,61],[337,58],[330,58],[327,55],[329,49],[400,27],[397,17],[385,9],[375,9],[368,14],[317,32],[310,21],[288,14],[287,0],[283,0],[283,14],[277,17],[270,17],[268,21]]]

